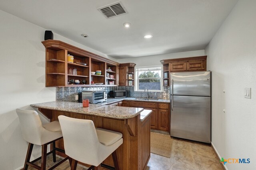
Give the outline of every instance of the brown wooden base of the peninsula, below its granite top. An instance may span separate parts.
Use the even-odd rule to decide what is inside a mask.
[[[38,107],[38,110],[48,117],[50,121],[58,120],[59,115],[78,119],[90,119],[94,122],[95,127],[122,133],[123,144],[116,150],[120,169],[144,170],[146,168],[150,158],[150,116],[141,121],[140,114],[128,119],[114,119],[40,107]],[[56,142],[56,147],[64,149],[63,139]],[[62,153],[57,154],[66,157]],[[112,156],[110,155],[103,164],[114,167]]]

